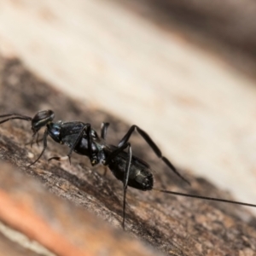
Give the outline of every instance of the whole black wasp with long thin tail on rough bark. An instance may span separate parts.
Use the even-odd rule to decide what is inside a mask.
[[[48,136],[51,137],[56,143],[66,144],[70,148],[67,156],[52,157],[49,160],[66,160],[67,158],[70,160],[71,154],[74,151],[77,154],[82,154],[89,157],[92,166],[96,166],[97,164],[108,166],[110,171],[113,172],[113,175],[123,183],[123,229],[125,229],[125,199],[127,187],[130,186],[132,188],[144,191],[154,189],[154,178],[151,173],[150,166],[145,161],[137,158],[137,156],[133,155],[131,152],[131,144],[129,143],[129,139],[132,132],[137,130],[137,132],[148,143],[150,148],[154,150],[154,153],[166,163],[166,166],[168,166],[172,172],[175,172],[178,177],[182,178],[184,182],[189,183],[188,180],[177,172],[172,163],[162,155],[160,148],[156,146],[148,134],[137,125],[131,125],[131,128],[120,140],[118,146],[114,146],[106,143],[106,135],[109,125],[108,123],[102,123],[101,137],[99,137],[96,131],[91,128],[89,123],[79,121],[64,122],[61,120],[54,122],[53,120],[55,118],[55,113],[52,110],[39,111],[33,118],[20,113],[3,114],[0,115],[0,118],[3,118],[3,120],[0,121],[0,124],[3,124],[10,119],[23,119],[26,121],[31,121],[33,131],[32,143],[35,137],[38,136],[38,131],[45,126],[43,137],[44,148],[41,154],[39,154],[38,158],[29,166],[35,164],[44,154],[44,151],[47,148]],[[126,148],[127,152],[125,151]],[[200,195],[183,194],[165,189],[154,190],[158,190],[166,194],[182,195],[210,201],[223,201],[247,207],[256,207],[256,205],[239,201],[229,201]]]

